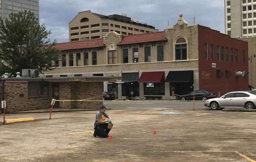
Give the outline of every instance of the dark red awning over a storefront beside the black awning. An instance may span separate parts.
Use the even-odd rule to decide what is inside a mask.
[[[164,83],[164,71],[142,72],[138,83]]]

